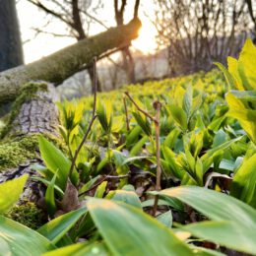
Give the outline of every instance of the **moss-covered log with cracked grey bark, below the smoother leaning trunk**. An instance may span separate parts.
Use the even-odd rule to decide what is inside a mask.
[[[38,135],[60,142],[59,112],[54,103],[57,99],[54,90],[51,84],[44,82],[31,82],[22,87],[21,95],[14,102],[7,125],[1,132],[0,183],[25,173],[30,176],[37,175],[32,169],[32,164],[42,163],[38,151]],[[44,192],[42,183],[29,178],[18,205],[22,206],[25,212],[30,210],[27,209],[28,206],[32,206],[33,210],[34,207],[43,209]],[[35,212],[43,216],[43,211],[39,208],[38,212]],[[17,212],[17,208],[15,211]],[[14,213],[9,215],[17,216]]]

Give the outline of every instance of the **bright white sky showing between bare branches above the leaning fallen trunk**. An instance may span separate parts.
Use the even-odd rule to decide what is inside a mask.
[[[47,2],[47,1],[46,1]],[[114,11],[113,0],[103,0],[104,7],[98,11],[96,17],[108,27],[114,27]],[[133,0],[128,0],[125,13],[125,22],[129,22],[133,17]],[[46,24],[45,13],[38,11],[27,0],[20,0],[17,5],[18,16],[20,20],[20,29],[22,40],[24,42],[25,62],[30,63],[41,57],[47,56],[67,45],[76,42],[76,39],[71,37],[56,37],[51,34],[39,33],[36,36],[33,28],[43,28]],[[93,14],[93,13],[92,13]],[[95,15],[95,14],[93,14]],[[134,48],[141,50],[145,54],[154,53],[157,48],[156,34],[157,31],[147,16],[154,16],[153,0],[141,0],[139,9],[139,17],[142,21],[142,29],[139,37],[133,41]],[[47,32],[65,33],[65,26],[56,19],[48,24],[43,30]],[[105,29],[99,25],[92,25],[90,34],[102,32]]]

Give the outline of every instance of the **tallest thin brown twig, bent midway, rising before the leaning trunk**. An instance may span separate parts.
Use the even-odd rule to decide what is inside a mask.
[[[69,176],[71,177],[72,175],[72,171],[76,165],[76,160],[78,158],[78,155],[79,155],[79,152],[81,151],[83,145],[85,144],[86,140],[87,140],[87,137],[92,129],[92,126],[94,124],[94,121],[96,120],[96,57],[94,58],[94,106],[93,106],[93,114],[92,114],[92,119],[89,123],[89,126],[87,128],[87,131],[83,137],[83,140],[81,141],[80,145],[78,146],[78,148],[76,149],[75,151],[75,155],[74,155],[74,158],[72,160],[72,163],[71,163],[71,167],[70,167],[70,170],[69,170]]]

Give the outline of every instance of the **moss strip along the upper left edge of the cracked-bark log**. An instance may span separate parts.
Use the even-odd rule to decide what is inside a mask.
[[[38,91],[47,92],[47,84],[45,83],[28,83],[24,85],[21,89],[21,95],[17,97],[15,102],[12,105],[12,110],[8,116],[8,120],[4,128],[0,131],[0,139],[3,139],[8,132],[12,129],[13,121],[16,116],[19,114],[22,105],[25,102],[29,102],[32,98],[36,98],[36,93]]]

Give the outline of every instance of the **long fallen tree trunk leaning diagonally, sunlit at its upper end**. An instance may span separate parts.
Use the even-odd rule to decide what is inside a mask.
[[[22,85],[36,80],[56,84],[92,63],[108,50],[128,45],[138,36],[141,22],[134,19],[128,25],[109,29],[83,39],[29,65],[19,66],[0,73],[0,105],[14,100]],[[38,49],[39,50],[39,49]]]

